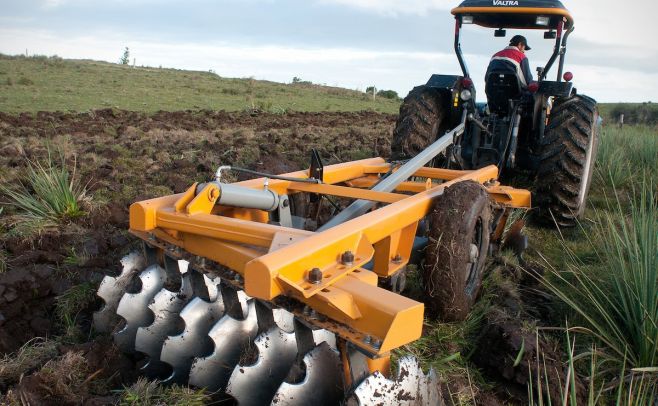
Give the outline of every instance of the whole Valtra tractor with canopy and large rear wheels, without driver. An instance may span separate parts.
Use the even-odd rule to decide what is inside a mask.
[[[434,165],[476,169],[497,165],[507,178],[534,178],[535,218],[540,223],[574,226],[582,216],[599,143],[596,101],[577,93],[573,75],[564,72],[567,40],[574,30],[569,11],[557,0],[466,0],[452,10],[454,49],[461,74],[434,74],[414,88],[400,108],[392,156],[416,155],[460,123],[464,133]],[[461,48],[465,25],[495,29],[542,30],[554,41],[553,53],[537,68],[537,81],[522,85],[518,73],[491,72],[486,103],[476,89]],[[556,66],[557,65],[557,66]],[[551,71],[557,71],[550,80]]]

